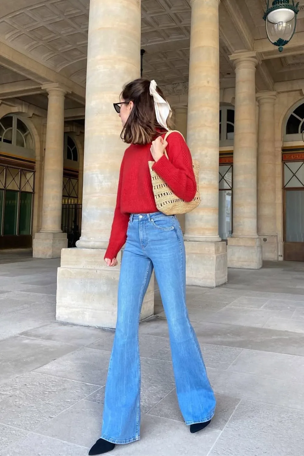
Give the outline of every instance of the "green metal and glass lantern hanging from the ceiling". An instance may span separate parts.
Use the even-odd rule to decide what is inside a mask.
[[[266,21],[266,33],[268,40],[274,46],[278,46],[279,52],[283,51],[283,47],[294,36],[298,6],[299,2],[295,5],[294,0],[273,0],[272,6],[269,7],[269,0],[267,1],[267,10],[263,16]]]

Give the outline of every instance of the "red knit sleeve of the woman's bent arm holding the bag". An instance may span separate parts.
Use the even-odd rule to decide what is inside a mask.
[[[196,180],[189,147],[179,133],[168,136],[166,151],[153,165],[153,170],[166,182],[176,196],[191,201],[196,194]]]

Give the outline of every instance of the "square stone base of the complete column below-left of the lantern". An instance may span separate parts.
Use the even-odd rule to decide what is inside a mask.
[[[228,238],[228,268],[260,269],[263,265],[260,238]]]

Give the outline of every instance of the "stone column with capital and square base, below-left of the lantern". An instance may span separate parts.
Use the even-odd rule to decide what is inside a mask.
[[[228,267],[259,269],[262,245],[257,233],[257,125],[255,52],[237,53],[233,150],[233,233],[228,238]]]

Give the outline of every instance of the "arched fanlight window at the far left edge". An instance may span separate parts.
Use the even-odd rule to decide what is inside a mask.
[[[0,141],[25,149],[34,149],[29,128],[16,114],[8,114],[0,119]]]

